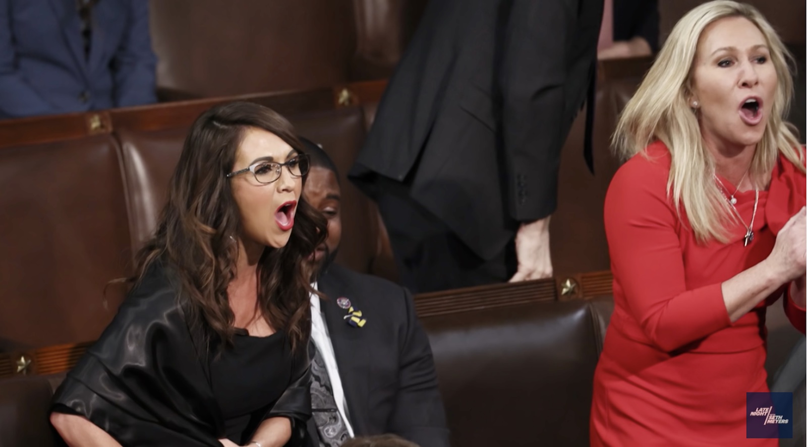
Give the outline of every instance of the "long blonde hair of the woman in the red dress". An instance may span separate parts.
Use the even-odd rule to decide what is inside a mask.
[[[667,145],[672,160],[667,194],[677,210],[683,205],[690,228],[701,243],[709,239],[725,242],[725,224],[737,219],[717,189],[714,161],[706,152],[697,117],[688,104],[700,35],[711,23],[727,17],[745,18],[759,28],[778,79],[771,114],[749,174],[752,179],[770,175],[780,153],[804,171],[797,131],[783,118],[793,92],[788,69],[792,56],[758,10],[730,0],[697,6],[675,24],[642,85],[625,106],[612,140],[615,152],[625,159],[644,152],[655,140]]]

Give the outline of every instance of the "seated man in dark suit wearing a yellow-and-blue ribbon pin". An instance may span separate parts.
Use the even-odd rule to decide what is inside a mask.
[[[328,155],[303,140],[312,161],[303,197],[328,219],[312,256],[312,412],[308,447],[393,433],[420,447],[449,447],[429,339],[412,295],[382,278],[332,263],[341,239],[338,175]],[[347,317],[347,318],[345,318]]]

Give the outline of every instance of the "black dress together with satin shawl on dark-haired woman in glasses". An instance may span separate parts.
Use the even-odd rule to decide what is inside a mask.
[[[236,336],[216,357],[192,333],[178,287],[160,264],[130,292],[115,319],[53,396],[53,411],[86,417],[124,447],[221,447],[249,439],[262,420],[291,420],[301,445],[311,417],[307,343],[291,353],[282,332]]]

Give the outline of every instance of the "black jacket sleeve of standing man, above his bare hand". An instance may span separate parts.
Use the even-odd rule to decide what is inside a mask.
[[[521,222],[557,206],[565,135],[567,54],[577,2],[514,0],[504,28],[501,69],[508,211]]]

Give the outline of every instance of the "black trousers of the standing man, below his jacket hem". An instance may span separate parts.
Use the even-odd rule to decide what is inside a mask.
[[[410,198],[382,194],[378,211],[390,236],[401,283],[412,293],[507,282],[516,273],[512,241],[501,253],[484,260]]]

